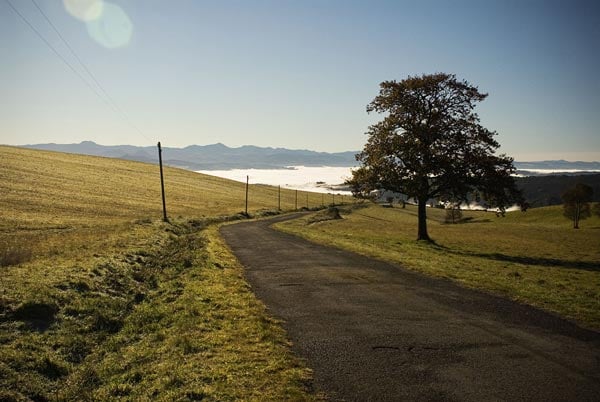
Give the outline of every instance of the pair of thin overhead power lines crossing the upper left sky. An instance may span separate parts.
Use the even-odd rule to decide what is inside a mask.
[[[33,0],[32,0],[33,1]],[[50,48],[50,50],[52,50],[52,52],[59,58],[62,60],[62,62],[77,76],[79,77],[79,79],[104,103],[106,103],[107,106],[109,106],[109,108],[113,109],[114,112],[117,113],[117,115],[127,124],[129,124],[132,128],[134,128],[138,134],[140,134],[141,136],[143,136],[144,138],[146,138],[147,140],[150,140],[150,138],[148,138],[147,136],[144,135],[144,133],[135,125],[131,122],[131,120],[127,117],[127,115],[119,108],[119,106],[114,102],[114,100],[110,97],[110,95],[108,95],[108,93],[106,92],[106,90],[104,90],[104,88],[102,87],[102,85],[100,85],[100,83],[95,79],[94,75],[89,71],[89,69],[85,66],[85,64],[81,61],[81,59],[76,55],[75,51],[71,48],[71,46],[67,43],[67,41],[64,39],[64,37],[59,33],[58,29],[56,28],[56,26],[50,21],[50,19],[48,18],[48,16],[41,10],[41,8],[38,6],[38,4],[33,1],[33,3],[35,4],[36,8],[40,11],[40,13],[44,16],[44,18],[46,18],[46,21],[50,24],[50,26],[52,26],[52,28],[54,29],[54,31],[58,34],[59,38],[61,38],[61,40],[63,41],[63,43],[66,45],[66,47],[71,51],[71,53],[74,55],[74,57],[79,61],[79,63],[81,64],[81,66],[84,68],[84,70],[88,73],[88,75],[91,77],[91,79],[94,81],[94,83],[98,86],[98,88],[100,88],[100,90],[104,93],[105,96],[102,96],[98,90],[96,88],[94,88],[89,82],[88,80],[86,80],[83,75],[81,75],[81,73],[79,71],[77,71],[77,69],[75,69],[75,67],[73,67],[73,65],[71,63],[69,63],[67,61],[67,59],[65,59],[63,57],[62,54],[60,54],[60,52],[58,52],[58,50],[56,50],[56,48],[54,46],[52,46],[52,44],[50,42],[48,42],[48,40],[40,33],[40,31],[38,31],[35,26],[33,26],[33,24],[31,22],[29,22],[29,20],[27,18],[25,18],[25,16],[23,14],[21,14],[21,12],[19,12],[19,10],[17,8],[15,8],[15,6],[10,2],[10,0],[6,0],[6,3],[9,5],[9,7],[15,12],[15,14],[17,14],[21,20],[23,20],[23,22],[25,22],[25,24],[27,24],[27,26],[29,26],[29,28],[31,28],[31,30],[46,44],[46,46],[48,46],[48,48]],[[151,140],[150,140],[151,141]]]

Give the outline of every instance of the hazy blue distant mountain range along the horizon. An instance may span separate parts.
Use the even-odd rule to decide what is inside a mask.
[[[79,144],[35,144],[25,148],[105,156],[140,162],[157,163],[155,146],[99,145],[92,141]],[[358,151],[315,152],[286,148],[268,148],[245,145],[230,148],[221,143],[212,145],[190,145],[185,148],[163,147],[163,162],[169,166],[189,170],[228,169],[284,169],[288,166],[355,166]],[[573,170],[600,172],[600,162],[568,162],[552,160],[540,162],[515,162],[518,173],[524,176],[539,175],[539,170],[569,172]]]

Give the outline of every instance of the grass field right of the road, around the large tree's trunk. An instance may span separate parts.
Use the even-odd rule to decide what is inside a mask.
[[[546,207],[505,218],[464,211],[469,220],[452,225],[444,224],[444,210],[429,209],[435,240],[429,244],[415,241],[416,214],[412,206],[370,205],[343,214],[343,220],[308,224],[306,217],[276,227],[600,329],[600,218],[574,230],[561,207]]]

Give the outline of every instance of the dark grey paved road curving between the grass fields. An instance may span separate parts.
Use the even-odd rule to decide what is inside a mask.
[[[346,401],[600,401],[600,334],[277,232],[221,234],[314,385]]]

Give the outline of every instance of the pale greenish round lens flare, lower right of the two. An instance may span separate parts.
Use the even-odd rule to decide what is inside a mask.
[[[133,35],[133,24],[125,11],[107,2],[103,4],[102,15],[87,21],[86,25],[90,36],[110,49],[128,45]]]

